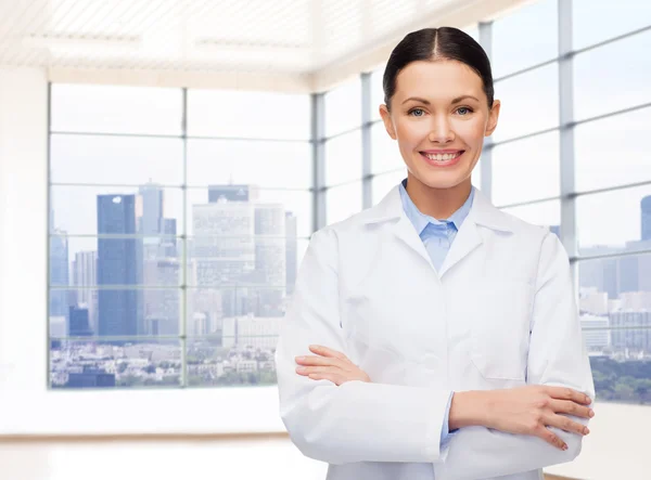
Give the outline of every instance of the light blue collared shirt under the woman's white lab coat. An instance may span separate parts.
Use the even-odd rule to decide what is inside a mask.
[[[413,224],[418,235],[425,245],[425,250],[432,260],[432,264],[438,271],[443,265],[443,261],[457,236],[457,232],[461,228],[463,220],[470,213],[472,200],[474,199],[474,186],[470,191],[470,195],[465,203],[445,220],[436,220],[434,217],[422,213],[407,193],[407,179],[400,183],[400,199],[403,200],[403,209],[405,215]],[[447,411],[443,421],[441,431],[441,445],[443,446],[449,440],[449,417],[452,395],[448,400]]]

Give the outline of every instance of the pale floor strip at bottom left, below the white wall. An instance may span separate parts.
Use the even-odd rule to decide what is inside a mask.
[[[285,438],[0,441],[0,480],[322,480]]]

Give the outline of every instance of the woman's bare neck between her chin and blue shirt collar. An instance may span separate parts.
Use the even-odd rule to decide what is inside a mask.
[[[408,173],[407,193],[417,208],[436,220],[449,218],[465,203],[472,191],[468,179],[451,189],[432,189]]]

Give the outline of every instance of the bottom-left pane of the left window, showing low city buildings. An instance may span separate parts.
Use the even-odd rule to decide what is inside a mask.
[[[180,387],[178,340],[51,340],[52,388]]]

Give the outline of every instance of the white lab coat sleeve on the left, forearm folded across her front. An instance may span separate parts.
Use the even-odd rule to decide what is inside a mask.
[[[310,345],[346,352],[340,322],[337,237],[312,235],[276,351],[280,415],[294,444],[330,464],[441,459],[450,391],[362,381],[337,387],[296,374]],[[371,379],[372,381],[372,379]]]

